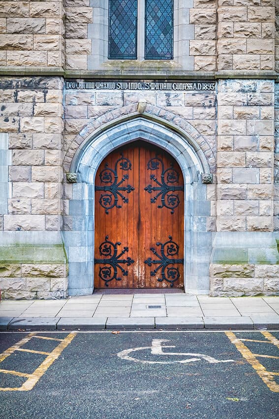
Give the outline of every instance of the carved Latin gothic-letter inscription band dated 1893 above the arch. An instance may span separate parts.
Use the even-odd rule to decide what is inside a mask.
[[[67,80],[65,88],[77,90],[215,90],[214,81]]]

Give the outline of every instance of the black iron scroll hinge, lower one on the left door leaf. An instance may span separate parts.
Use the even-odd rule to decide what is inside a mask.
[[[105,266],[100,266],[99,269],[99,278],[105,281],[105,286],[109,286],[109,282],[113,279],[121,281],[122,278],[118,277],[118,268],[122,272],[123,277],[128,276],[128,271],[126,271],[121,264],[130,266],[134,263],[134,260],[130,257],[126,259],[120,259],[124,253],[129,251],[128,247],[123,247],[122,252],[117,255],[118,249],[117,246],[120,246],[120,242],[115,244],[108,240],[108,236],[105,237],[105,241],[99,245],[100,256],[104,256],[104,259],[94,259],[94,264],[103,264]]]

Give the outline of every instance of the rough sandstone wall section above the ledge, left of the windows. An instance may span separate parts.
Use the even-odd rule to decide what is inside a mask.
[[[0,1],[0,66],[62,68],[63,16],[63,0]]]

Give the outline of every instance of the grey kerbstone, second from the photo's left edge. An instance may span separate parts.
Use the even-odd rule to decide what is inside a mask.
[[[58,317],[14,317],[8,330],[56,330]]]

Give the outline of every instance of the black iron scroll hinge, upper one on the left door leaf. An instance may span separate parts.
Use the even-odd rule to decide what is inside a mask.
[[[123,200],[125,204],[129,202],[128,198],[122,194],[122,191],[126,191],[128,194],[132,192],[135,188],[131,185],[121,186],[125,180],[129,178],[128,174],[122,176],[120,182],[118,181],[118,164],[120,165],[121,170],[128,171],[131,170],[132,164],[130,160],[125,158],[123,154],[115,163],[114,170],[109,168],[108,163],[105,164],[105,169],[100,173],[100,181],[104,183],[103,186],[95,186],[95,191],[104,191],[104,194],[101,194],[99,199],[99,204],[105,209],[106,214],[109,213],[113,207],[122,208],[121,205],[118,205],[119,197]]]

